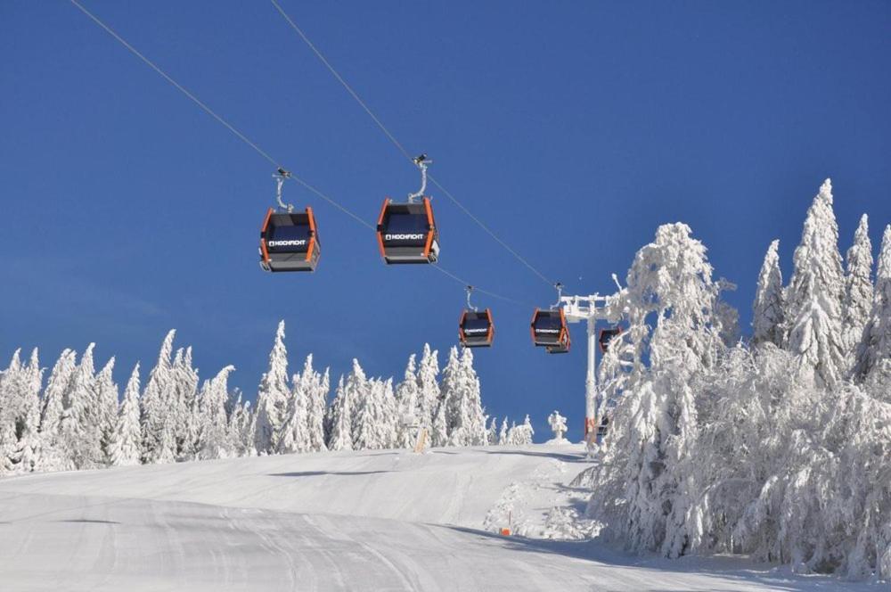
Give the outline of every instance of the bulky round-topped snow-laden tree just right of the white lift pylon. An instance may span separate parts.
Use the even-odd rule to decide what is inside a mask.
[[[698,493],[696,382],[724,347],[711,275],[705,247],[681,223],[659,226],[628,272],[631,316],[656,316],[650,368],[617,405],[588,511],[635,550],[676,557],[703,534],[689,514]]]

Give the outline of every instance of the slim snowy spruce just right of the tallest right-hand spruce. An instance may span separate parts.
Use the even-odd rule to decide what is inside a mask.
[[[845,304],[842,329],[849,366],[854,366],[857,346],[863,338],[863,327],[872,309],[872,243],[869,218],[863,214],[854,233],[854,244],[847,250]]]

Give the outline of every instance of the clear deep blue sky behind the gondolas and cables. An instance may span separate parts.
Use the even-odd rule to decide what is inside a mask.
[[[264,2],[85,0],[275,159],[373,221],[418,175]],[[744,331],[773,238],[783,271],[832,177],[845,250],[862,212],[891,221],[891,4],[298,3],[282,0],[372,110],[495,232],[572,292],[608,292],[659,224],[706,243]],[[317,212],[315,275],[266,275],[258,227],[271,167],[67,2],[0,4],[0,356],[98,343],[124,381],[170,328],[203,377],[249,395],[275,324],[296,370],[400,376],[454,344],[462,286],[385,267],[363,226]],[[544,282],[433,193],[442,263],[543,305]],[[529,342],[531,310],[492,306],[484,402],[584,415],[584,332],[568,356]]]

